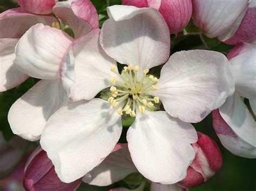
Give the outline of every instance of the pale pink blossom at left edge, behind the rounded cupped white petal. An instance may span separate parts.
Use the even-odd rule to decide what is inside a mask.
[[[58,20],[52,16],[33,15],[23,8],[0,13],[0,91],[14,88],[29,77],[12,63],[19,38],[32,25],[43,23],[51,26],[53,22],[58,22]]]

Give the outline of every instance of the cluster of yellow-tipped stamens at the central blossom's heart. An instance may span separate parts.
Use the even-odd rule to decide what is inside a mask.
[[[117,81],[116,77],[112,76],[110,83],[111,95],[107,102],[112,104],[115,108],[123,103],[123,107],[117,110],[119,115],[125,114],[131,117],[136,116],[136,110],[144,114],[146,108],[154,107],[154,103],[159,103],[159,97],[154,97],[149,94],[149,91],[157,90],[155,84],[159,81],[153,75],[147,75],[149,69],[143,71],[143,77],[139,77],[139,66],[133,67],[132,65],[125,66],[122,73],[119,74],[116,66],[111,66],[111,71],[119,76]]]

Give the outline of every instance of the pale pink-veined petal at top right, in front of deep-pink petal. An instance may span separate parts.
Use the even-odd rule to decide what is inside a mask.
[[[192,0],[192,18],[209,38],[225,33],[247,9],[249,0]]]

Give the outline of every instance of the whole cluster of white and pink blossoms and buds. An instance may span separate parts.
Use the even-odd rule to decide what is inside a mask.
[[[0,13],[0,91],[39,79],[8,114],[15,135],[40,143],[25,165],[27,190],[107,186],[132,173],[143,176],[136,190],[197,187],[223,164],[191,124],[211,112],[221,144],[256,158],[255,0],[123,0],[102,26],[89,0],[18,4]],[[173,53],[171,36],[189,23],[232,49]]]

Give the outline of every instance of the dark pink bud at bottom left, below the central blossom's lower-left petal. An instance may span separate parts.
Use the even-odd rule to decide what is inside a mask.
[[[39,146],[26,162],[23,185],[26,190],[75,190],[82,179],[71,183],[59,180],[51,160]]]

